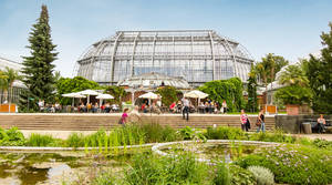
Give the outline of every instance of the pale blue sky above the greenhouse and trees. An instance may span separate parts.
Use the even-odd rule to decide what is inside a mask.
[[[46,4],[55,70],[73,76],[75,61],[118,30],[215,30],[240,42],[256,61],[291,62],[317,53],[330,31],[332,0],[0,0],[0,56],[22,62],[31,25]]]

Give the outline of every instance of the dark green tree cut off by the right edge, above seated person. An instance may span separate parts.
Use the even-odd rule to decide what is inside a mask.
[[[332,22],[329,23],[330,32],[323,32],[321,40],[323,49],[321,56],[310,54],[307,61],[307,75],[313,92],[312,109],[315,112],[332,113]]]

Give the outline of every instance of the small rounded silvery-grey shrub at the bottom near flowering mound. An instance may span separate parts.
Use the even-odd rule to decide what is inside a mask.
[[[250,171],[253,174],[258,185],[274,184],[274,175],[270,169],[262,166],[249,166],[248,171]]]

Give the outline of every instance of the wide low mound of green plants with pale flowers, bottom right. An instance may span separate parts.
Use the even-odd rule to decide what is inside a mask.
[[[282,145],[262,148],[236,162],[241,167],[263,166],[272,171],[277,183],[332,183],[332,152],[310,146]]]

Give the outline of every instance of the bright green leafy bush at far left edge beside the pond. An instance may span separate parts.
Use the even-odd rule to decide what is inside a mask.
[[[0,129],[0,145],[23,146],[25,142],[24,135],[18,127],[11,127],[9,130]]]

